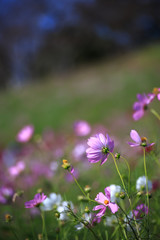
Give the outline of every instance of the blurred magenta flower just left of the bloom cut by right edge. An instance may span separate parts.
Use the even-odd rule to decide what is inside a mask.
[[[133,119],[135,121],[143,117],[144,112],[148,109],[148,104],[153,100],[153,98],[146,94],[137,94],[138,102],[133,104]]]

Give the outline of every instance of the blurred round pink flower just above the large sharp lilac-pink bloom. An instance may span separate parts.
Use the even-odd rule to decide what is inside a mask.
[[[86,136],[90,133],[91,127],[86,121],[77,121],[74,123],[75,134],[79,137]]]

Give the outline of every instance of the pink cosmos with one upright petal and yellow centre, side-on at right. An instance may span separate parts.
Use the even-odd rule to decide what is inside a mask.
[[[155,144],[155,143],[148,144],[147,143],[147,138],[146,137],[140,137],[136,130],[131,130],[130,137],[134,141],[134,143],[133,142],[128,142],[130,147],[138,147],[138,146],[151,147]]]

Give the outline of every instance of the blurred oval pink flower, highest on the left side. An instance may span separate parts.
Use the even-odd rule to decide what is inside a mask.
[[[16,136],[16,140],[22,143],[28,142],[31,139],[33,132],[34,127],[32,125],[27,125],[19,131],[19,133]]]

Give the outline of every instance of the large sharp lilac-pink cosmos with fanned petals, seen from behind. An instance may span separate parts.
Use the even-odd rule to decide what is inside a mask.
[[[91,163],[101,161],[101,165],[107,161],[109,152],[113,152],[114,141],[111,141],[109,135],[105,137],[102,133],[98,133],[95,137],[90,137],[87,144],[87,158]]]

